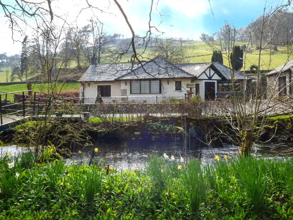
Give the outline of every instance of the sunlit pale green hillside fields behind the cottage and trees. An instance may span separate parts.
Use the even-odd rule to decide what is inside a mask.
[[[236,43],[237,44],[237,43]],[[239,43],[242,44],[242,43]],[[175,42],[176,46],[179,46],[179,42]],[[292,47],[292,46],[291,46]],[[142,60],[149,60],[154,57],[154,48],[155,47],[147,47],[145,50],[145,47],[137,48],[137,54],[141,55],[139,56]],[[183,43],[184,48],[184,56],[185,58],[182,60],[182,63],[209,63],[211,61],[211,55],[212,51],[216,49],[220,49],[217,42],[214,44],[208,45],[205,42],[202,41],[188,41]],[[251,65],[258,65],[258,56],[259,51],[256,50],[254,47],[249,47],[251,52],[247,53],[244,57],[244,63],[245,69],[249,69]],[[292,48],[289,48],[289,51]],[[229,60],[227,53],[225,51],[222,51],[223,53],[223,59],[224,59],[224,65],[229,66]],[[105,54],[110,55],[110,54]],[[130,61],[131,54],[126,54],[121,57],[121,59],[118,59],[118,62],[127,62]],[[260,59],[260,69],[273,69],[278,66],[283,65],[287,61],[288,55],[287,55],[287,46],[278,46],[278,51],[273,51],[269,47],[266,47],[261,52],[261,59]],[[112,59],[116,60],[115,57],[112,57]],[[293,55],[290,56],[289,60],[293,59]],[[113,62],[110,58],[105,58],[102,60],[102,62],[109,63]],[[84,67],[86,67],[88,64],[82,63]],[[68,64],[68,67],[73,70],[74,67],[77,66],[77,63],[75,61],[71,61]],[[58,66],[59,67],[59,66]],[[243,69],[244,69],[243,68]],[[6,82],[6,68],[1,69],[2,72],[0,72],[0,83]],[[82,74],[83,72],[80,72],[79,74]],[[11,76],[11,69],[8,69],[8,81],[10,82],[10,76]],[[70,75],[69,75],[70,76]],[[29,77],[30,78],[30,77]],[[24,80],[24,79],[23,79]]]

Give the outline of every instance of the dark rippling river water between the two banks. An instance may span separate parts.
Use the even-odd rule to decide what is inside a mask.
[[[117,170],[121,169],[143,169],[147,165],[148,158],[153,155],[167,154],[174,156],[175,160],[180,160],[184,154],[184,144],[181,140],[175,141],[152,141],[146,139],[135,140],[97,140],[93,147],[75,149],[74,155],[66,159],[67,164],[85,163],[88,164],[92,156],[99,160],[103,166],[109,165]],[[94,149],[98,152],[94,153]],[[81,150],[81,154],[78,151]],[[27,151],[26,148],[13,146],[0,147],[0,154],[18,154]],[[187,149],[188,158],[200,158],[202,163],[214,162],[215,155],[223,158],[238,155],[238,147],[224,144],[224,146],[199,146],[198,142],[191,140],[190,149]],[[253,154],[265,157],[287,157],[293,156],[293,144],[276,143],[266,146],[253,146]]]

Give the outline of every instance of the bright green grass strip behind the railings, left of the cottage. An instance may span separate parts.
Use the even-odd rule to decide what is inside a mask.
[[[39,92],[47,92],[47,84],[33,84],[32,90],[39,91]],[[57,83],[56,91],[67,91],[67,90],[78,90],[79,84],[78,83]],[[22,91],[27,90],[26,84],[14,84],[14,85],[7,85],[7,86],[0,86],[1,92],[15,92],[15,91]],[[2,100],[5,97],[2,96]],[[7,100],[13,101],[13,94],[7,95]]]

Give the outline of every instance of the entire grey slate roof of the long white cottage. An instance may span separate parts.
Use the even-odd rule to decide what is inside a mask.
[[[161,56],[143,65],[138,63],[117,63],[91,65],[79,82],[102,82],[150,78],[197,78],[206,69],[212,67],[224,79],[230,80],[231,73],[227,66],[220,63],[193,63],[173,65]],[[236,79],[243,79],[243,74],[236,72]]]

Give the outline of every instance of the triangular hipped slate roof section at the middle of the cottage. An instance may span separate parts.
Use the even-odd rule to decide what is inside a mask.
[[[194,78],[194,75],[169,63],[163,57],[158,56],[155,59],[146,62],[143,66],[139,66],[138,68],[129,71],[125,75],[118,77],[117,80],[146,78]]]

